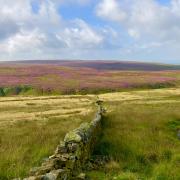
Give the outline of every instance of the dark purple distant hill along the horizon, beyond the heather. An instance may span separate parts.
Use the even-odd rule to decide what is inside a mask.
[[[164,71],[180,70],[180,65],[156,64],[130,61],[83,61],[83,60],[32,60],[32,61],[11,61],[5,64],[51,64],[66,67],[93,68],[96,70],[123,70],[123,71]],[[3,64],[4,64],[3,63]]]

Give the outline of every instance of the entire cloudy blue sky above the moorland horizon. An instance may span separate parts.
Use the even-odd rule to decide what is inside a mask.
[[[180,0],[0,0],[0,61],[180,64]]]

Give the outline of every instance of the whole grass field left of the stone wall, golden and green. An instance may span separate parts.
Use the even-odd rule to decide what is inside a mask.
[[[51,155],[65,133],[89,121],[91,96],[0,98],[0,179],[24,177]]]

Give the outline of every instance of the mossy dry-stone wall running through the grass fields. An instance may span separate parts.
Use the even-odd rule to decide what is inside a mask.
[[[79,128],[67,133],[55,153],[40,167],[33,168],[30,177],[24,180],[85,179],[82,172],[101,130],[103,108],[101,101],[97,101],[96,104],[98,111],[95,118],[90,123],[83,123]]]

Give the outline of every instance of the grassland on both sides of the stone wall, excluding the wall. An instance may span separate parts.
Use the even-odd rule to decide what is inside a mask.
[[[94,116],[96,95],[0,98],[0,179],[24,177],[65,133]],[[107,113],[92,180],[180,179],[180,88],[100,94]]]

